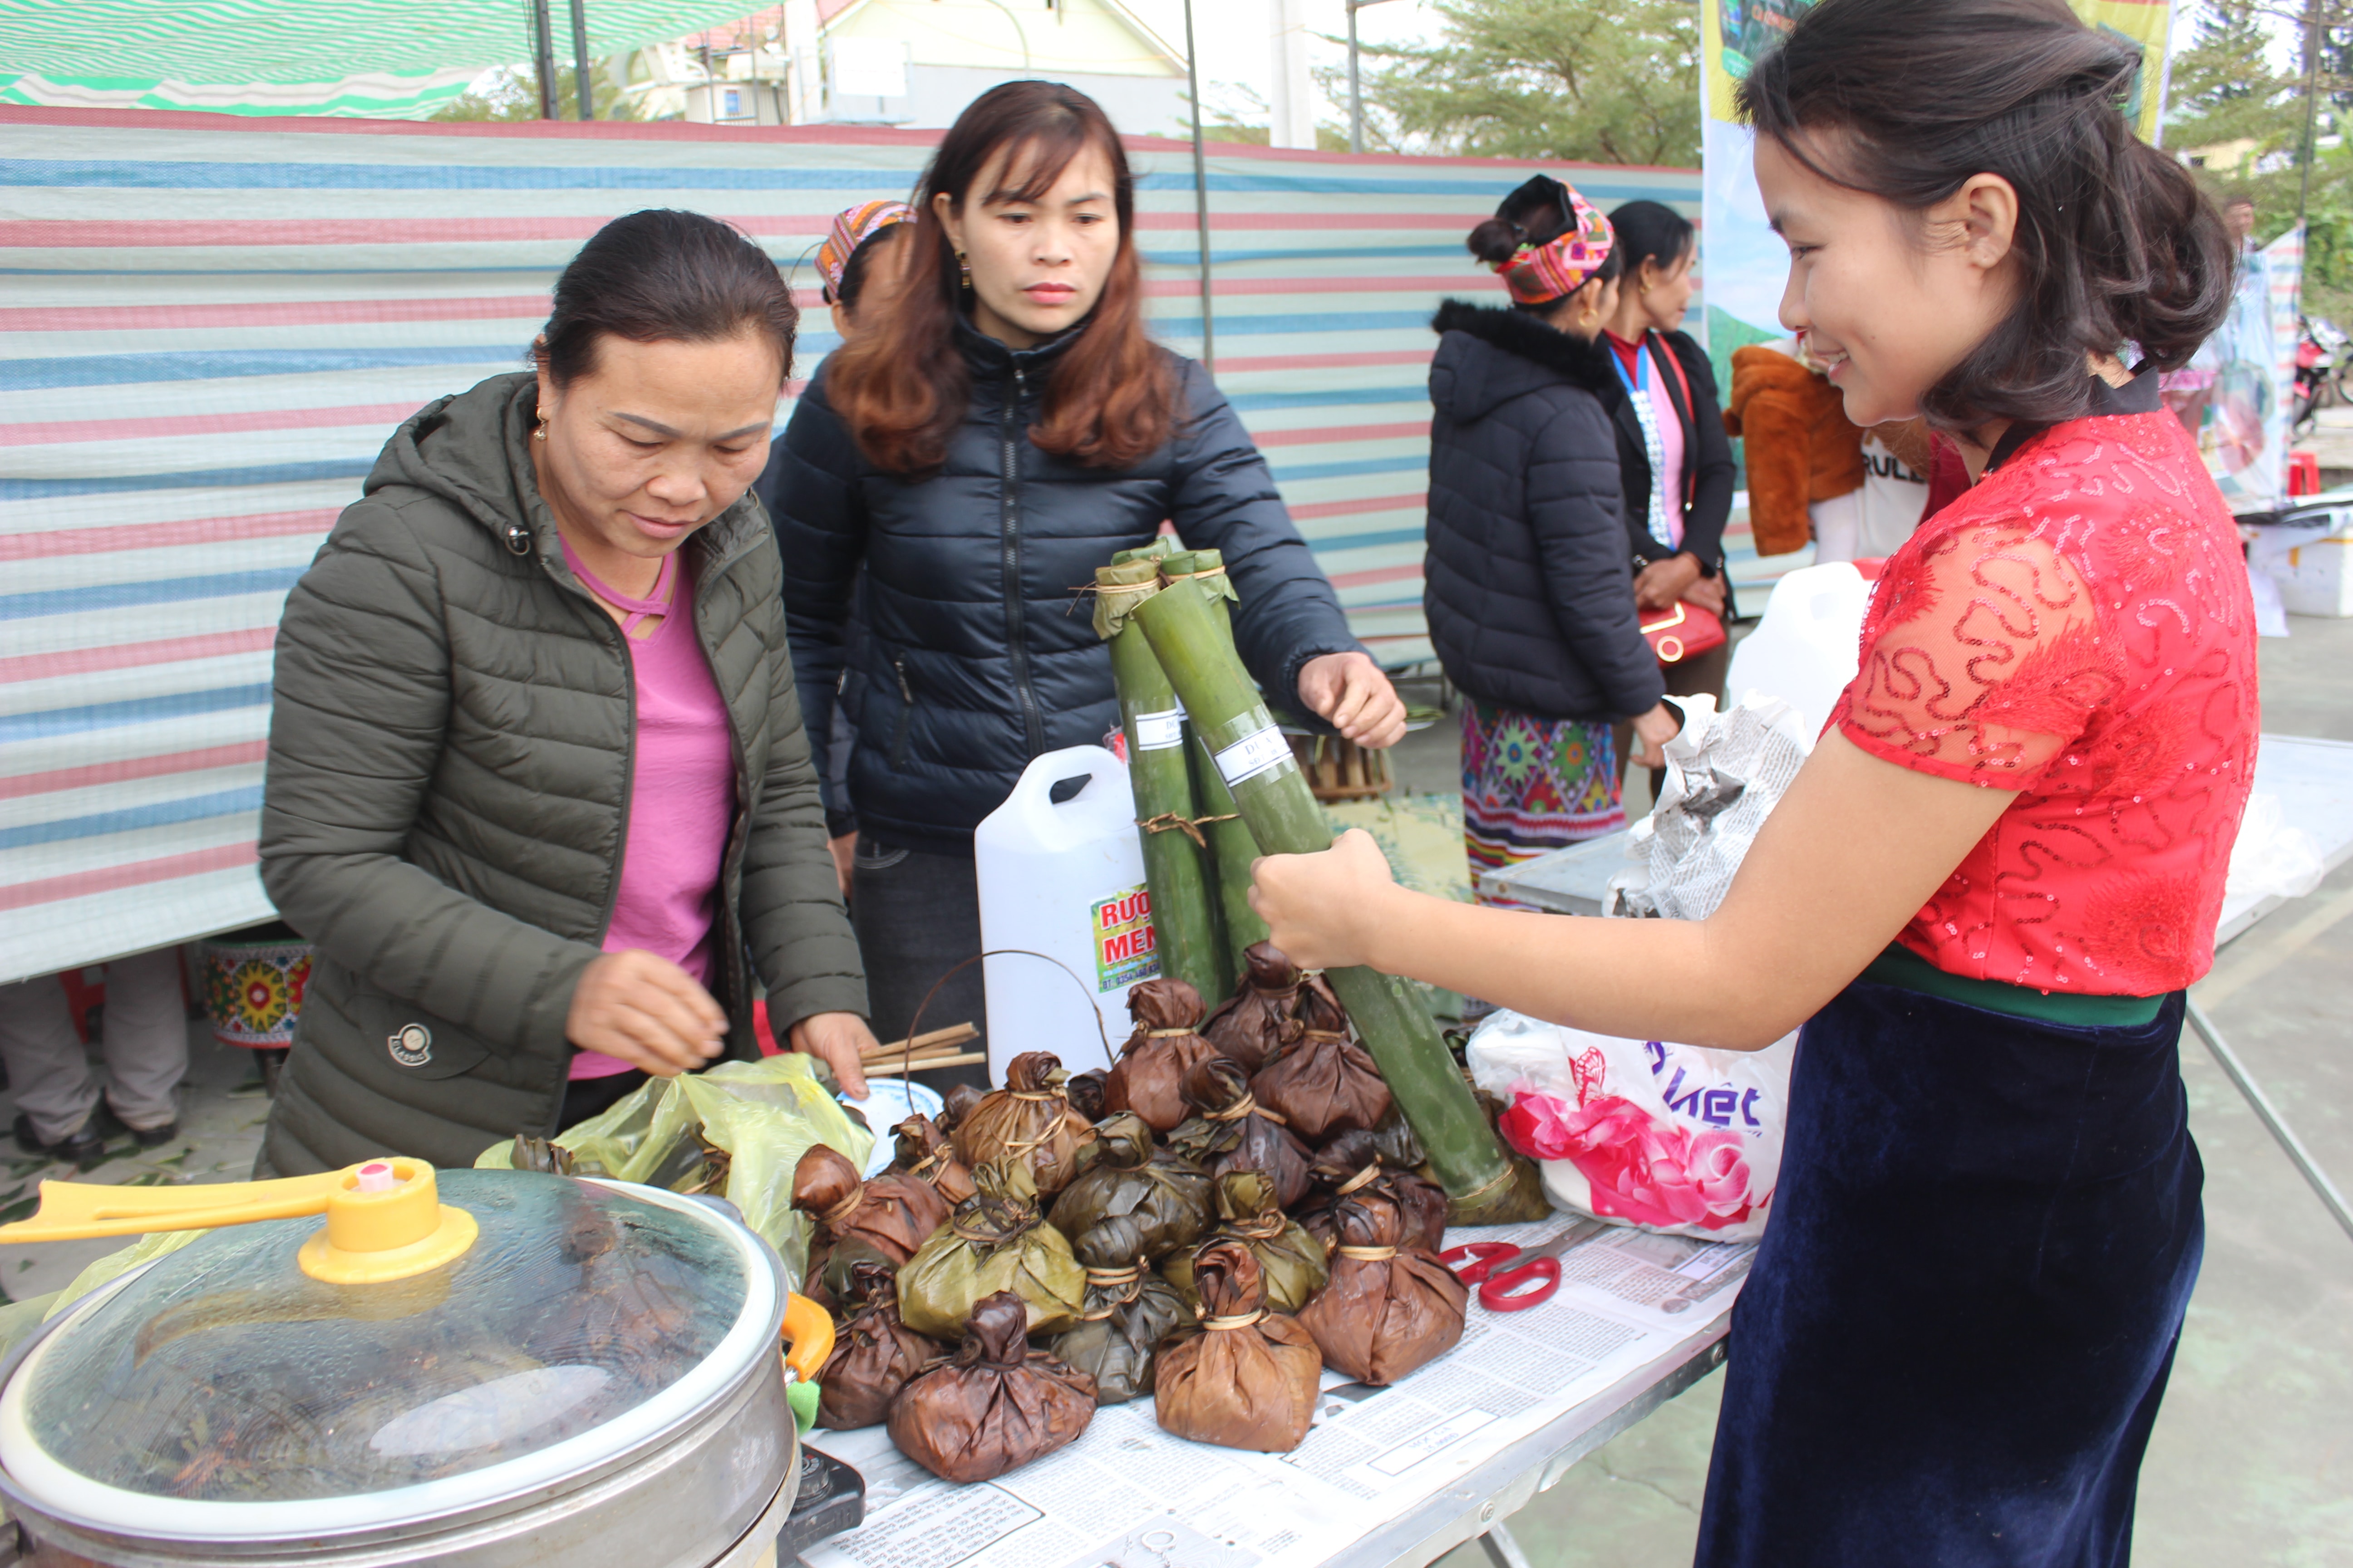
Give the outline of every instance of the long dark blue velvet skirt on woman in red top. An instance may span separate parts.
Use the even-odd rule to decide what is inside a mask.
[[[1701,1568],[2122,1568],[2205,1222],[2139,1027],[1849,985],[1798,1037]]]

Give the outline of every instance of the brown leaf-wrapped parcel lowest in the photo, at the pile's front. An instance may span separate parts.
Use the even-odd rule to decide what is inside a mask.
[[[1021,1298],[972,1302],[953,1361],[936,1361],[889,1408],[889,1441],[941,1481],[991,1481],[1066,1448],[1094,1420],[1094,1378],[1028,1347]]]

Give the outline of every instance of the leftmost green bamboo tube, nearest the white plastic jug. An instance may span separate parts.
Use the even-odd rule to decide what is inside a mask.
[[[1153,893],[1160,973],[1184,980],[1217,1006],[1233,990],[1233,969],[1217,919],[1209,851],[1193,842],[1198,827],[1179,827],[1200,816],[1186,762],[1184,712],[1176,708],[1176,689],[1153,658],[1153,644],[1120,616],[1132,590],[1158,581],[1165,552],[1120,550],[1111,567],[1096,569],[1094,630],[1111,646],[1111,682],[1120,693],[1127,783],[1136,795],[1136,839],[1144,842],[1144,882]]]

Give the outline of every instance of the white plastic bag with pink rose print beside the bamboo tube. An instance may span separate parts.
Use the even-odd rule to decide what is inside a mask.
[[[1504,1100],[1504,1140],[1539,1161],[1555,1208],[1704,1241],[1765,1234],[1781,1173],[1795,1034],[1706,1051],[1489,1013],[1473,1081]]]

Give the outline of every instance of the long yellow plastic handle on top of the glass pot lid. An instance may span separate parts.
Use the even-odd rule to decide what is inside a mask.
[[[433,1166],[421,1159],[367,1159],[325,1175],[202,1187],[99,1187],[42,1182],[40,1213],[0,1225],[7,1241],[82,1241],[144,1237],[158,1229],[219,1229],[252,1220],[327,1215],[296,1262],[332,1284],[407,1279],[466,1253],[473,1215],[440,1201]]]

